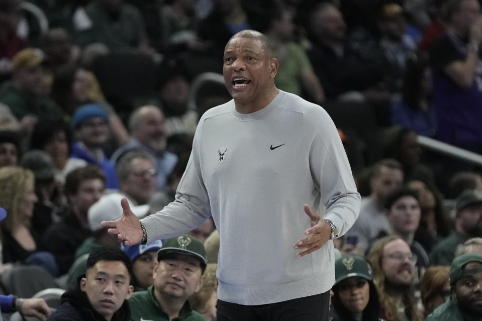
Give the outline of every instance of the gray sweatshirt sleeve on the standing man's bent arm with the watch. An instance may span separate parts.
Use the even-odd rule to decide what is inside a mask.
[[[361,197],[335,124],[325,110],[317,107],[316,115],[308,118],[315,131],[310,168],[326,206],[323,218],[332,221],[342,236],[358,218]]]

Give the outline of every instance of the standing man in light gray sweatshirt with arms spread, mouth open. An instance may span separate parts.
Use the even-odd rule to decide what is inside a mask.
[[[360,195],[332,120],[277,89],[277,69],[264,35],[234,35],[223,66],[233,100],[201,118],[175,200],[141,221],[123,200],[123,216],[103,222],[132,245],[177,236],[213,216],[218,320],[327,319],[330,239],[358,217]]]

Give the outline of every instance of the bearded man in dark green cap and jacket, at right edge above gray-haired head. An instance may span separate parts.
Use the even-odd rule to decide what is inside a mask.
[[[466,190],[457,198],[455,231],[440,241],[430,254],[433,265],[450,265],[455,250],[470,238],[482,236],[482,192]]]

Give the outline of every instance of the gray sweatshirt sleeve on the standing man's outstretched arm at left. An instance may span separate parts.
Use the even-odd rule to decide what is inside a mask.
[[[176,191],[175,200],[157,213],[142,220],[148,242],[171,238],[201,225],[211,216],[208,191],[200,165],[199,139],[203,120],[196,130],[186,170]]]

